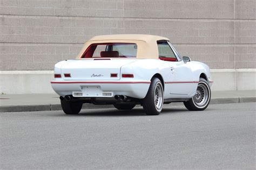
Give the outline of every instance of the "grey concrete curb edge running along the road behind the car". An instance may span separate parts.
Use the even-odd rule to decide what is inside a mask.
[[[225,104],[225,103],[248,103],[256,102],[256,97],[232,97],[232,98],[212,98],[210,104]],[[171,103],[180,105],[181,103]],[[83,104],[82,109],[105,109],[114,108],[113,105],[94,105]],[[1,106],[0,112],[23,112],[23,111],[51,111],[62,110],[60,104],[44,104],[44,105],[11,105]]]

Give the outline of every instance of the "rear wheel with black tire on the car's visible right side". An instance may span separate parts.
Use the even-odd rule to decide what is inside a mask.
[[[156,95],[156,89],[158,89],[158,95]],[[158,99],[156,98],[156,100],[155,95],[158,97]],[[158,78],[153,77],[151,80],[149,91],[147,91],[146,97],[142,100],[143,109],[145,110],[147,115],[159,115],[161,110],[163,109],[163,104],[163,85]]]

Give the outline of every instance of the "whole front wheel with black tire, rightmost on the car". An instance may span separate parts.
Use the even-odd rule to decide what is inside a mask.
[[[203,93],[201,93],[203,90]],[[198,93],[199,92],[199,93]],[[191,111],[205,110],[211,101],[211,89],[209,83],[203,79],[199,79],[197,93],[190,98],[189,101],[184,102],[185,107]]]

